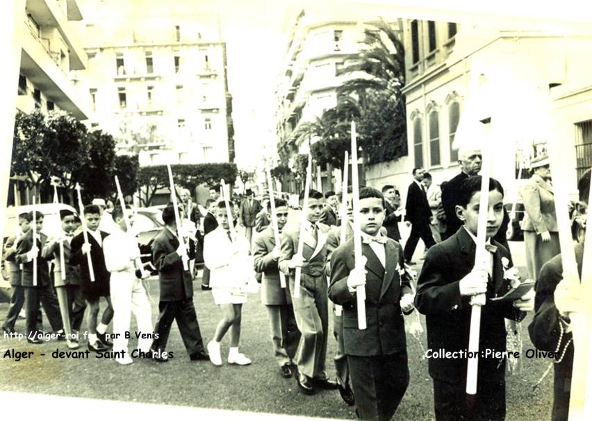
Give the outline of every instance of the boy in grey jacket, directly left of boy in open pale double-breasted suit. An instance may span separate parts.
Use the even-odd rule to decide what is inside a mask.
[[[271,205],[268,203],[268,211]],[[281,233],[288,221],[288,203],[275,199],[277,229]],[[272,225],[265,227],[255,237],[253,245],[255,271],[263,273],[261,280],[261,304],[265,305],[270,318],[274,356],[281,370],[281,377],[292,377],[293,359],[300,341],[300,332],[296,325],[290,287],[281,288],[279,281],[279,244],[275,243]]]

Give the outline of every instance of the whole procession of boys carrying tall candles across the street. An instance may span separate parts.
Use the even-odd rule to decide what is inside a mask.
[[[423,343],[427,338],[436,420],[504,420],[506,378],[520,375],[507,358],[508,326],[534,311],[523,334],[554,352],[552,419],[567,420],[570,315],[581,304],[578,293],[561,282],[561,255],[532,275],[534,286],[517,277],[504,239],[504,187],[478,175],[483,160],[479,149],[461,148],[461,174],[443,183],[441,195],[431,194],[429,174],[413,169],[406,204],[391,184],[360,186],[357,169],[338,194],[312,189],[307,180],[299,194],[302,214],[274,194],[272,183],[262,205],[250,189],[240,202],[231,198],[222,180],[204,206],[192,205],[188,191],[172,184],[150,250],[140,248],[134,210],[124,200],[110,211],[109,233],[101,230],[101,200],[84,204],[79,196],[79,212],[60,210],[60,234],[49,237],[44,214],[20,214],[17,234],[3,250],[13,286],[4,337],[20,332],[35,345],[50,336],[72,352],[104,353],[121,366],[149,359],[165,370],[172,358],[249,366],[257,361],[241,349],[249,341],[241,336],[243,304],[259,297],[268,315],[268,358],[277,362],[278,376],[295,383],[295,393],[323,399],[322,390],[334,390],[362,420],[396,418],[409,386],[411,333]],[[541,167],[549,169],[548,157],[533,160],[533,170]],[[586,171],[578,183],[580,223],[589,184]],[[288,223],[293,212],[301,220]],[[408,239],[399,223],[411,227]],[[419,239],[426,251],[417,273],[411,259]],[[200,286],[220,309],[212,332],[200,329],[194,304],[198,254],[205,265]],[[577,244],[580,272],[582,255]],[[145,284],[151,273],[158,273],[156,300]],[[52,334],[43,330],[40,307]],[[477,358],[470,354],[475,307]],[[25,322],[18,325],[23,308]],[[167,345],[173,322],[185,352]],[[335,354],[327,352],[329,341],[336,341]],[[122,369],[122,376],[129,373]],[[467,393],[468,384],[476,391]]]

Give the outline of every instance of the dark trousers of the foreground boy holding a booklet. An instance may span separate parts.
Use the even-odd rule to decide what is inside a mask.
[[[466,383],[434,379],[436,421],[502,421],[506,418],[506,381],[479,381],[477,395],[466,395]]]

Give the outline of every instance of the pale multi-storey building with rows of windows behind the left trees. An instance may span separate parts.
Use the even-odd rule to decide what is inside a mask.
[[[138,153],[141,166],[233,161],[218,17],[95,12],[85,23],[88,70],[80,75],[90,128],[112,134],[118,153]]]

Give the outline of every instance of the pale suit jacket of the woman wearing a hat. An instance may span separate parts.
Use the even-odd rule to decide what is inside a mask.
[[[557,232],[557,214],[551,184],[538,175],[533,175],[523,186],[520,196],[524,202],[524,231]]]

